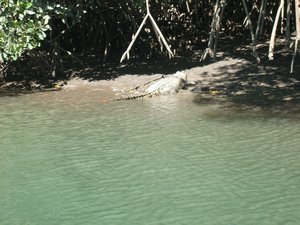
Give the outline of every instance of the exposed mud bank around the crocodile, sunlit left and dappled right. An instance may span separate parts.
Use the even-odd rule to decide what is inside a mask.
[[[300,76],[290,75],[279,66],[257,65],[245,59],[224,58],[204,66],[185,68],[189,86],[181,92],[194,93],[198,99],[226,98],[242,104],[281,104],[299,102]],[[128,73],[110,80],[74,78],[64,91],[98,91],[99,96],[114,98],[168,73]],[[179,93],[180,94],[180,93]]]

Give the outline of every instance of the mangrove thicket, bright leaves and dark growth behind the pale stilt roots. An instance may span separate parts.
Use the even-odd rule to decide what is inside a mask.
[[[205,49],[203,40],[211,30],[216,2],[149,1],[152,16],[177,54]],[[226,2],[220,35],[249,36],[242,1]],[[246,2],[255,26],[262,1]],[[278,1],[267,2],[265,33],[270,32],[278,7]],[[103,64],[109,60],[118,61],[145,13],[145,0],[0,0],[0,69],[24,58],[22,56],[32,55],[39,65],[46,65],[41,70],[52,77],[65,71],[66,57],[75,59],[75,55],[96,55]],[[32,54],[37,47],[40,47],[39,51]],[[132,55],[146,59],[161,54],[155,33],[148,23],[137,39]]]

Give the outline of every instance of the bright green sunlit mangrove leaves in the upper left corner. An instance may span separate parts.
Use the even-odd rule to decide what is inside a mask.
[[[4,0],[0,8],[0,63],[17,60],[41,45],[50,16],[33,0]]]

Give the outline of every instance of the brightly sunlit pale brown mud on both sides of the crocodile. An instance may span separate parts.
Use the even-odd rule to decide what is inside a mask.
[[[249,67],[250,63],[246,60],[226,59],[219,62],[211,63],[206,66],[185,68],[178,71],[184,71],[187,74],[188,82],[195,83],[193,90],[203,86],[218,85],[218,81],[230,79],[228,72],[237,73],[242,67]],[[224,68],[228,68],[224,71]],[[128,73],[109,80],[87,80],[75,77],[62,86],[63,90],[84,90],[98,89],[111,92],[112,95],[126,94],[129,90],[142,86],[152,80],[156,80],[164,75],[172,73],[152,73],[152,74],[135,74]],[[222,81],[222,83],[224,83]],[[191,90],[191,88],[189,88]]]

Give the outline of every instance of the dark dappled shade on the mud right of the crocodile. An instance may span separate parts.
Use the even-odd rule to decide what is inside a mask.
[[[264,60],[260,65],[237,63],[214,68],[214,74],[204,74],[208,79],[194,89],[198,94],[195,102],[229,102],[230,107],[240,110],[293,108],[300,113],[300,62],[295,63],[298,73],[294,74],[289,73],[290,62],[291,55],[278,54],[274,61]]]

